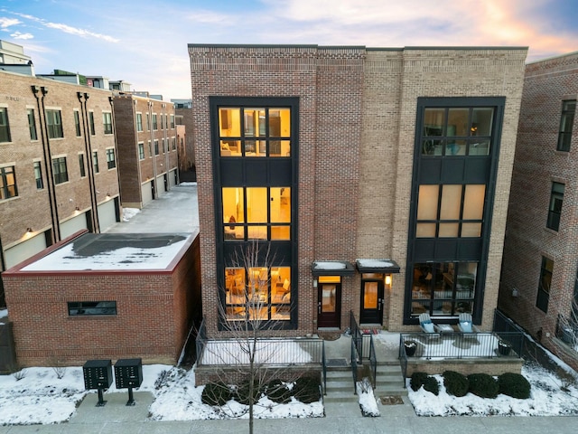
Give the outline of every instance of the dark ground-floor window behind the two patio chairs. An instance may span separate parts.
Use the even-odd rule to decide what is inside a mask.
[[[414,265],[412,315],[456,316],[473,311],[477,262]]]

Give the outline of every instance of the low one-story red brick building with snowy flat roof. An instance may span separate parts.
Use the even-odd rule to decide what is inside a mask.
[[[22,366],[176,363],[200,308],[198,233],[77,233],[4,273]]]

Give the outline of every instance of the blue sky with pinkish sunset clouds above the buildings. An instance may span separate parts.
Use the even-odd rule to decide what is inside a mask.
[[[189,43],[578,50],[574,0],[0,0],[0,39],[54,69],[190,99]]]

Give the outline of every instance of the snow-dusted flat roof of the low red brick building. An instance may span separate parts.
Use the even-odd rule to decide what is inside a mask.
[[[87,234],[94,235],[94,234]],[[166,269],[187,241],[187,234],[109,239],[83,237],[23,267],[23,271]],[[86,237],[86,235],[84,236]],[[118,235],[117,235],[118,237]],[[131,245],[132,244],[132,245]],[[128,247],[127,247],[128,245]]]

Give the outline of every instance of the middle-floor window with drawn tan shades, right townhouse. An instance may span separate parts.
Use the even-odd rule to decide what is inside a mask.
[[[486,185],[420,185],[417,238],[480,237]]]

